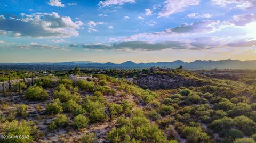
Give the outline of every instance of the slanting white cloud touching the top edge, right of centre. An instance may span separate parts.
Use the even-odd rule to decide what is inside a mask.
[[[184,11],[186,7],[198,5],[199,2],[200,0],[166,0],[163,9],[158,13],[158,18]]]

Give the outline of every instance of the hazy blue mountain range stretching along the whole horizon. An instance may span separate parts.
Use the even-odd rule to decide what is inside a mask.
[[[102,68],[102,69],[142,69],[142,68],[150,68],[152,66],[167,68],[178,68],[179,66],[183,66],[185,69],[256,69],[256,60],[251,61],[240,61],[240,60],[219,60],[219,61],[202,61],[196,60],[194,62],[183,62],[181,60],[173,61],[173,62],[150,62],[150,63],[134,63],[132,61],[127,61],[124,63],[94,63],[90,61],[76,61],[76,62],[59,62],[59,63],[51,63],[51,62],[42,62],[42,63],[0,63],[0,69],[13,69],[16,67],[19,69],[19,66],[22,67],[54,67],[58,69],[69,69],[74,66],[79,66],[81,68]]]

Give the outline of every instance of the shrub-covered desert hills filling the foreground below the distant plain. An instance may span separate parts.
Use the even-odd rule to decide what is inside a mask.
[[[256,71],[214,71],[2,71],[0,142],[255,142]]]

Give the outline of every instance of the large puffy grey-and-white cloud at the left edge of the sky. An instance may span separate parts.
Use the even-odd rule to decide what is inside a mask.
[[[81,21],[73,22],[68,16],[58,13],[22,14],[22,18],[0,19],[0,30],[14,37],[60,38],[78,36]],[[12,25],[12,27],[10,27]]]

